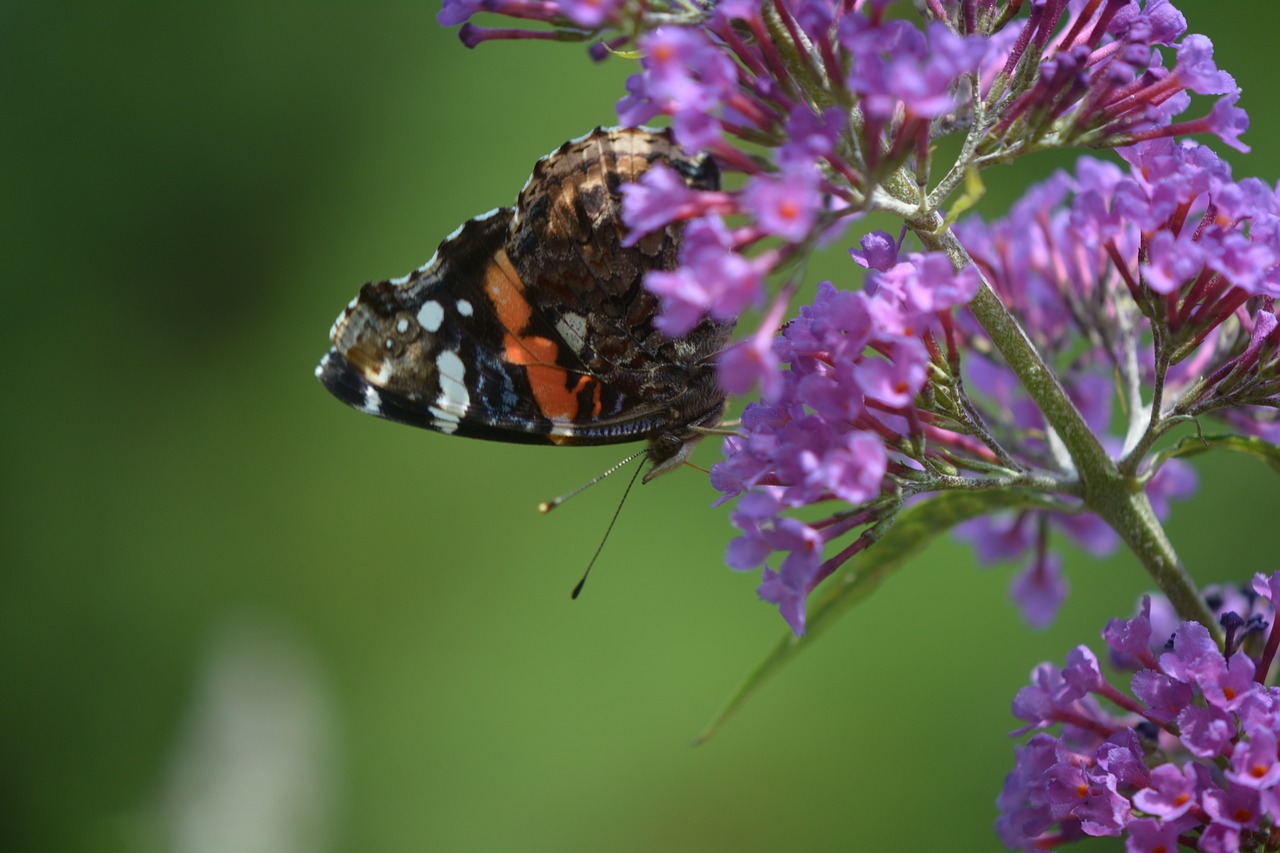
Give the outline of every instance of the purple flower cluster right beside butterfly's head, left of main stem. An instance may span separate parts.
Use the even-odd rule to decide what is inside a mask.
[[[773,551],[788,552],[778,571],[765,566],[759,592],[796,633],[809,592],[874,542],[872,526],[822,558],[828,542],[884,517],[876,502],[887,473],[910,475],[920,455],[984,450],[929,423],[915,402],[931,369],[945,369],[938,339],[950,339],[950,309],[977,287],[972,268],[956,273],[943,255],[916,255],[873,270],[860,292],[823,282],[777,339],[773,352],[791,368],[768,405],[748,406],[744,434],[726,439],[712,483],[726,496],[750,492],[731,516],[742,535],[728,546],[730,566],[755,569]],[[781,515],[829,501],[864,508],[812,524]]]

